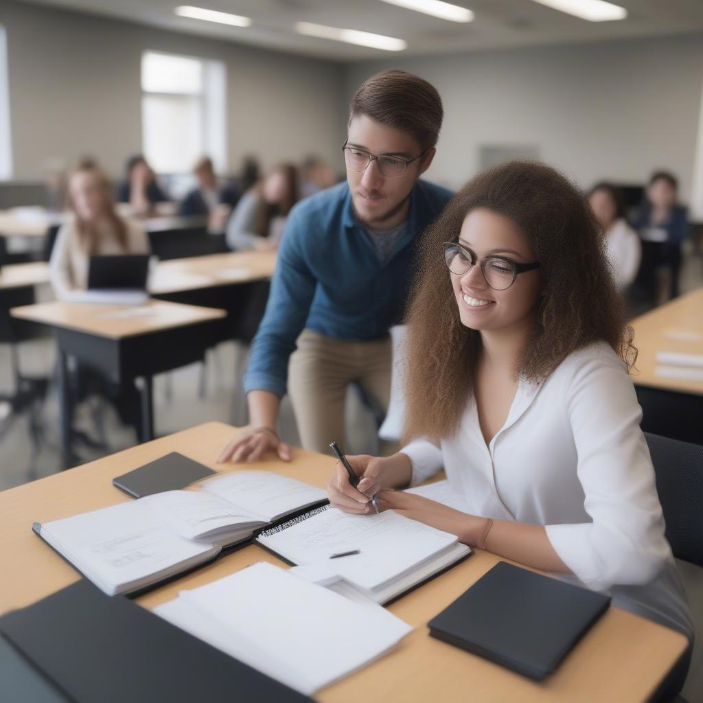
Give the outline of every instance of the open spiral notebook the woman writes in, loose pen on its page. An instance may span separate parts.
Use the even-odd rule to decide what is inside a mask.
[[[387,603],[472,553],[456,536],[393,510],[352,515],[323,505],[263,530],[255,540],[298,565],[297,575],[332,587],[347,583],[377,603]],[[359,554],[330,559],[333,554]]]

